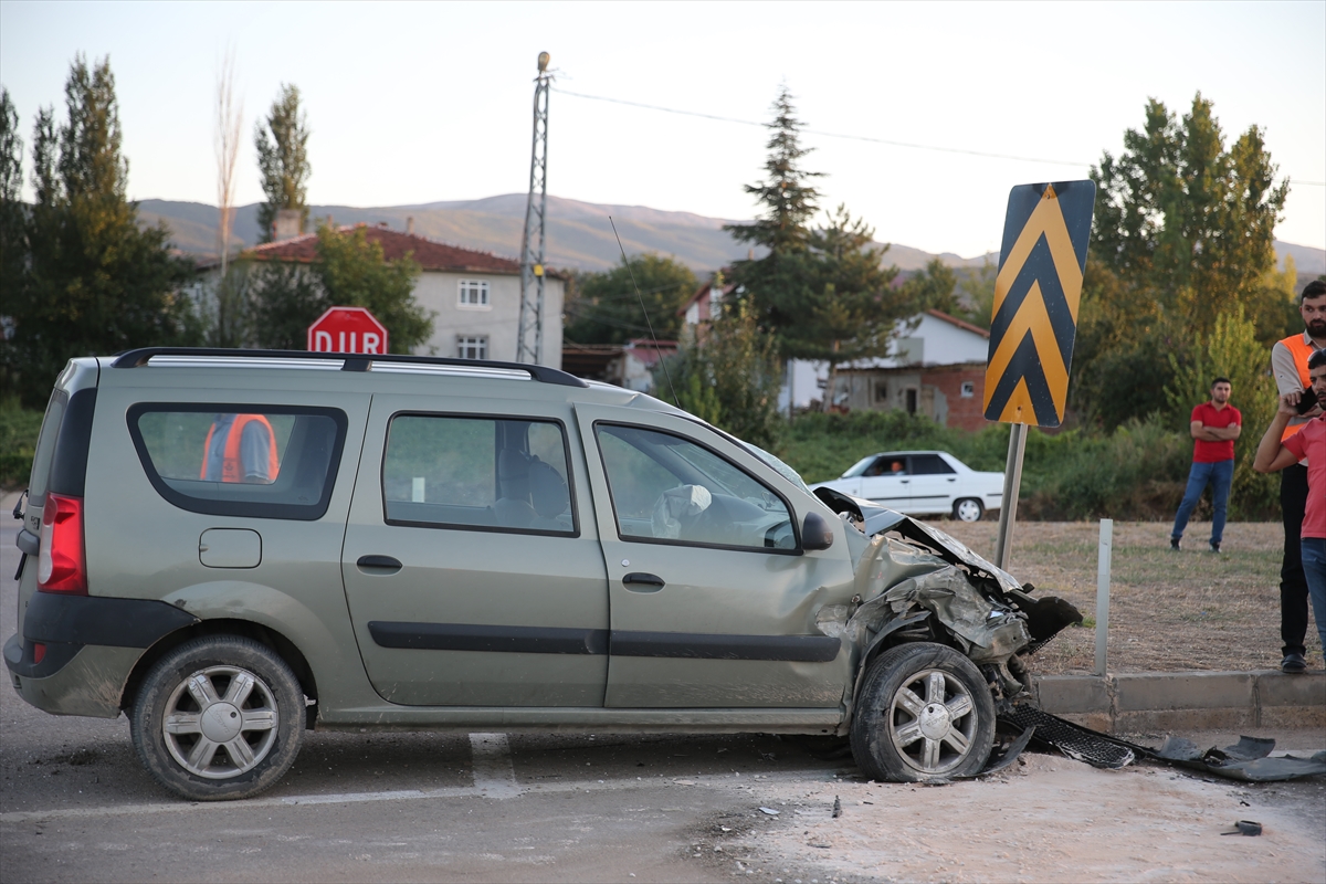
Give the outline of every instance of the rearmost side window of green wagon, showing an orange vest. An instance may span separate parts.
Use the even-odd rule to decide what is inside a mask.
[[[142,403],[129,432],[156,492],[194,513],[326,513],[347,420],[338,408]]]

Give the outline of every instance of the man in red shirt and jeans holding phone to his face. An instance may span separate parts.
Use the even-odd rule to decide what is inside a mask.
[[[1307,359],[1307,378],[1319,402],[1326,402],[1326,350],[1318,350]],[[1314,493],[1305,501],[1303,526],[1301,534],[1302,570],[1307,580],[1307,592],[1313,599],[1313,616],[1317,618],[1317,634],[1326,649],[1326,412],[1315,408],[1317,417],[1298,425],[1298,432],[1285,436],[1289,421],[1298,416],[1298,392],[1280,398],[1280,408],[1266,428],[1266,435],[1257,445],[1253,469],[1260,473],[1273,473],[1294,469],[1299,461],[1307,460],[1307,486]],[[1306,618],[1305,618],[1306,620]],[[1305,623],[1306,632],[1306,623]],[[1299,641],[1302,636],[1299,636]],[[1297,665],[1290,667],[1286,656],[1281,669],[1302,672],[1307,668],[1303,655],[1297,655]]]

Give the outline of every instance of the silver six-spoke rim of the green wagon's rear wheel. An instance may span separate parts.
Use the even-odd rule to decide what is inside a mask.
[[[276,698],[261,679],[239,667],[208,667],[171,693],[162,736],[188,773],[229,779],[267,757],[278,724]]]

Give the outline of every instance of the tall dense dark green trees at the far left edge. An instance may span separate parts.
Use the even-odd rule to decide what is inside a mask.
[[[8,382],[29,407],[42,404],[70,357],[196,343],[202,334],[179,293],[191,268],[171,256],[164,225],[139,228],[138,207],[125,197],[129,163],[109,61],[77,57],[65,103],[58,129],[53,109],[37,114],[30,277],[5,297],[15,323]]]

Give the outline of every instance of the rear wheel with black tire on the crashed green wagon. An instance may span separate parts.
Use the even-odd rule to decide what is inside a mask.
[[[271,648],[233,635],[186,641],[149,671],[130,716],[156,782],[190,801],[249,798],[304,741],[304,691]]]

